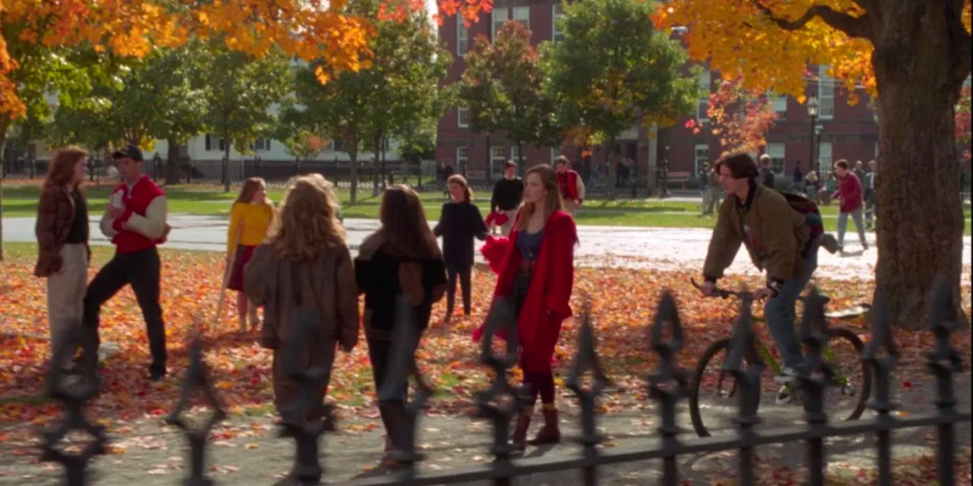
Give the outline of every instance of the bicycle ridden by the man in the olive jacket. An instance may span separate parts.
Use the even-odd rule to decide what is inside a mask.
[[[694,287],[702,292],[702,287],[699,284],[697,284],[695,281],[692,281],[692,283]],[[711,296],[722,298],[736,297],[739,300],[749,301],[751,303],[753,301],[753,293],[746,291],[734,292],[716,288]],[[799,299],[802,301],[805,300],[803,296],[799,297]],[[825,299],[825,301],[827,301],[827,297],[825,297]],[[693,375],[692,388],[690,389],[689,396],[689,413],[690,418],[693,421],[693,428],[696,430],[696,434],[699,434],[701,437],[707,437],[710,435],[709,430],[707,429],[707,424],[703,423],[700,400],[701,390],[703,388],[708,388],[709,385],[713,384],[713,376],[711,373],[706,372],[706,366],[713,361],[716,355],[729,351],[730,339],[731,336],[725,337],[706,348],[706,350],[703,352],[703,356],[700,358],[699,363],[696,365],[696,370]],[[839,363],[840,360],[836,355],[835,350],[841,348],[842,345],[847,344],[849,344],[851,350],[853,350],[853,353],[850,355],[850,364]],[[827,343],[824,347],[822,355],[824,360],[831,364],[834,369],[832,381],[835,386],[829,387],[829,389],[837,389],[840,392],[840,395],[838,399],[825,399],[825,402],[832,405],[841,405],[847,402],[847,405],[850,405],[850,412],[843,414],[844,418],[842,420],[844,421],[857,420],[861,417],[862,413],[865,411],[866,400],[869,398],[872,391],[871,368],[860,359],[863,348],[864,344],[862,343],[861,339],[859,339],[858,335],[852,330],[845,328],[828,329]],[[725,361],[726,357],[721,360],[721,362]],[[780,364],[777,363],[771,351],[767,348],[767,345],[764,344],[763,340],[754,334],[753,345],[744,354],[744,362],[746,364],[753,364],[758,361],[762,361],[764,364],[766,364],[773,375],[780,374]],[[853,380],[850,378],[850,373],[854,373],[855,371],[859,370],[861,372],[861,383],[859,386],[856,386],[853,383]],[[734,375],[730,371],[724,370],[722,364],[720,364],[719,371],[715,374],[714,385],[716,388],[717,397],[719,399],[733,399],[737,394],[737,382]],[[727,386],[728,390],[723,389],[724,385]],[[753,413],[756,413],[757,408],[759,408],[762,389],[763,386],[758,387],[758,390],[755,392],[754,399],[756,400],[756,403],[754,403]],[[794,379],[790,383],[784,384],[777,392],[776,404],[779,405],[787,402],[803,403],[804,398],[805,396],[801,391],[800,380]],[[729,407],[736,410],[736,401],[731,400],[729,403]],[[708,406],[709,404],[705,403],[705,405]],[[712,415],[712,413],[707,413],[709,427],[712,427],[712,423],[715,421]],[[834,416],[834,414],[829,415]]]

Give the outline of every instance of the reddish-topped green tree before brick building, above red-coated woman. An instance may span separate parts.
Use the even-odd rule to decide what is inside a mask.
[[[524,146],[560,145],[562,135],[552,124],[554,103],[542,88],[544,74],[530,31],[508,21],[492,44],[477,37],[465,59],[459,99],[470,110],[473,131],[505,134],[517,146],[522,173]]]

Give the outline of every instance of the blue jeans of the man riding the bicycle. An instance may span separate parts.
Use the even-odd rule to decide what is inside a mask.
[[[811,275],[817,268],[817,248],[820,244],[820,237],[811,241],[808,247],[807,259],[804,260],[804,274],[800,277],[792,278],[780,288],[777,296],[769,298],[764,304],[764,318],[767,320],[767,327],[771,330],[771,336],[780,351],[784,367],[796,368],[801,364],[801,345],[797,342],[797,326],[794,305],[797,297],[808,287]]]

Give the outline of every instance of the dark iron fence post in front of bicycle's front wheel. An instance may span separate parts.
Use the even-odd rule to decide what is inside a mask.
[[[734,422],[738,426],[739,438],[744,442],[753,436],[753,428],[760,423],[760,418],[757,416],[757,406],[760,402],[760,375],[767,367],[754,348],[753,318],[750,313],[752,302],[753,299],[749,296],[740,301],[739,318],[730,338],[730,350],[726,362],[723,364],[723,371],[730,373],[736,381],[739,415],[734,418]],[[745,368],[744,359],[747,363]],[[739,484],[740,486],[753,485],[753,447],[751,446],[739,448]]]

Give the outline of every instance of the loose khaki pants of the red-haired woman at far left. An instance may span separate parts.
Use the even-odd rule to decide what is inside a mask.
[[[88,284],[88,249],[84,244],[64,245],[60,257],[60,270],[48,277],[48,325],[51,327],[52,356],[67,332],[72,327],[81,326]],[[72,358],[69,357],[65,365],[70,364]]]

